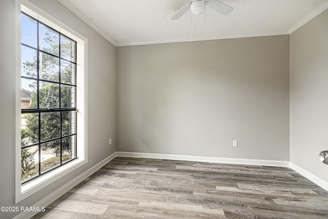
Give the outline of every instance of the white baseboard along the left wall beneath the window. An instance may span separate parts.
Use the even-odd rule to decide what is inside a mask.
[[[107,164],[108,162],[113,160],[115,157],[116,157],[116,152],[112,153],[111,155],[109,155],[104,160],[100,161],[99,163],[97,163],[96,165],[94,165],[93,167],[88,169],[87,171],[76,176],[75,178],[73,178],[73,180],[69,181],[65,185],[58,188],[57,190],[51,192],[46,197],[42,198],[42,200],[40,200],[40,201],[36,202],[34,205],[32,205],[32,207],[39,207],[41,209],[41,207],[43,207],[43,206],[46,207],[46,206],[50,205],[51,203],[56,201],[61,195],[64,195],[66,192],[71,190],[74,186],[76,186],[80,182],[84,181],[87,177],[89,177],[91,174],[93,174],[94,172],[99,170],[101,167],[103,167],[105,164]],[[38,212],[23,211],[23,212],[19,213],[18,215],[16,215],[15,217],[13,217],[13,219],[31,218],[32,216],[34,216],[37,213]]]

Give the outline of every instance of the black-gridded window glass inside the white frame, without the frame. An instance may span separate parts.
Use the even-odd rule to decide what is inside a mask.
[[[76,42],[24,12],[21,41],[24,184],[76,158]]]

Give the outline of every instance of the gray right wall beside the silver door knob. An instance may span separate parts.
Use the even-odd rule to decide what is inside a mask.
[[[291,34],[290,161],[328,182],[328,10]],[[323,174],[324,173],[324,174]]]

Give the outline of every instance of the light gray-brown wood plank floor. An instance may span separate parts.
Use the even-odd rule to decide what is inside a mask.
[[[116,157],[33,218],[328,218],[289,168]]]

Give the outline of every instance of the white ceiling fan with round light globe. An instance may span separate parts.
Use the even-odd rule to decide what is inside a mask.
[[[172,17],[172,20],[179,19],[183,14],[185,14],[189,9],[192,14],[201,14],[205,11],[205,7],[209,6],[215,11],[227,15],[232,12],[233,8],[229,5],[223,4],[216,0],[193,0],[192,2],[187,3],[179,11],[177,11]]]

